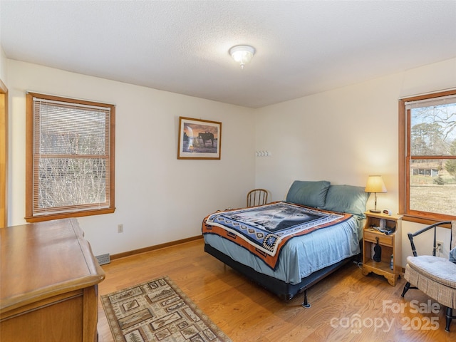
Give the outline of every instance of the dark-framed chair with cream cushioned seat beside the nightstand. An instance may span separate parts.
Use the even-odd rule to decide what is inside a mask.
[[[453,309],[456,309],[456,264],[450,260],[435,256],[437,249],[436,229],[442,224],[451,224],[450,232],[450,250],[456,246],[456,221],[445,221],[431,224],[415,233],[408,233],[408,239],[412,247],[413,257],[407,257],[404,278],[407,284],[404,286],[404,296],[408,289],[419,289],[430,298],[447,307],[445,330],[450,331],[450,324]],[[430,229],[434,229],[434,245],[432,255],[418,256],[413,237],[416,237]]]

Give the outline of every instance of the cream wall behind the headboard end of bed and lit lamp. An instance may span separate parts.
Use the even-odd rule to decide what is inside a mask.
[[[305,80],[304,80],[305,81]],[[284,199],[293,180],[366,186],[383,175],[378,207],[398,211],[398,99],[456,87],[456,58],[353,86],[270,105],[256,113],[256,184]],[[373,196],[368,208],[373,207]],[[405,224],[403,265],[411,254]]]

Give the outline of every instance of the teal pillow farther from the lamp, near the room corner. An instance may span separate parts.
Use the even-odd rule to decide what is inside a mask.
[[[326,180],[315,182],[295,180],[286,194],[286,202],[314,208],[322,207],[325,204],[329,185],[331,183]]]

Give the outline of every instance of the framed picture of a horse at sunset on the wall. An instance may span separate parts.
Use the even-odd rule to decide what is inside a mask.
[[[220,159],[222,123],[179,118],[177,159]]]

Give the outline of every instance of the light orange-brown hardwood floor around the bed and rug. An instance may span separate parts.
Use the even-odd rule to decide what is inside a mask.
[[[404,279],[390,286],[382,276],[363,276],[354,263],[308,291],[309,309],[301,306],[301,295],[281,301],[204,253],[202,239],[115,259],[103,269],[100,295],[170,276],[233,342],[456,341],[455,320],[445,332],[444,309],[415,313],[416,306],[432,309],[427,296],[410,290],[403,299]],[[100,302],[98,319],[99,341],[113,342]]]

